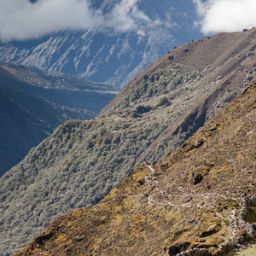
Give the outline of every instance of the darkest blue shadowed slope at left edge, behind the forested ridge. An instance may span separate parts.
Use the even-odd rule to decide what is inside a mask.
[[[92,119],[95,113],[61,108],[0,84],[0,176],[67,119]]]

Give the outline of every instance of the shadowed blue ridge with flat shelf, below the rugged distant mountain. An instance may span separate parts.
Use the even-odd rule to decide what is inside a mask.
[[[113,85],[77,79],[67,74],[49,76],[38,69],[31,71],[17,65],[0,66],[0,76],[0,83],[5,87],[41,96],[59,106],[81,108],[95,113],[100,113],[119,92]]]

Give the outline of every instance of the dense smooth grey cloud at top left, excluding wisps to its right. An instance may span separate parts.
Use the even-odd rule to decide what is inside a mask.
[[[100,15],[78,0],[1,0],[0,39],[38,38],[64,29],[90,29]]]

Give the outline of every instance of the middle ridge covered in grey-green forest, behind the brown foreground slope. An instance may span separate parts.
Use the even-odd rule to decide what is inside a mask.
[[[160,160],[255,76],[256,29],[182,44],[92,120],[70,120],[0,179],[3,255],[61,214],[95,205],[144,161]],[[200,142],[198,142],[200,143]]]

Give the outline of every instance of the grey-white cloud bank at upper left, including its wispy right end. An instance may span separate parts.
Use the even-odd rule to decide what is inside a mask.
[[[0,40],[26,40],[67,29],[96,27],[143,34],[143,25],[153,21],[138,9],[138,2],[122,0],[103,15],[102,11],[91,8],[90,0],[1,0]]]

